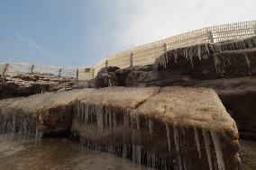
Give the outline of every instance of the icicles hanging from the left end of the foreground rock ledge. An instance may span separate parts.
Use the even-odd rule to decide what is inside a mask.
[[[43,134],[39,130],[38,120],[32,114],[15,111],[0,115],[0,133],[17,133],[30,139],[41,139]]]

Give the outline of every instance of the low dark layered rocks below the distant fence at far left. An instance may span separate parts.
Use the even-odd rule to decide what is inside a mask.
[[[52,76],[49,74],[23,74],[0,77],[0,99],[29,96],[45,92],[54,92],[65,86],[74,85],[73,78]]]

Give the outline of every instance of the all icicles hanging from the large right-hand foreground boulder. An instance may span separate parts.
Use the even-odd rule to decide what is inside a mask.
[[[97,129],[99,133],[103,133],[103,131],[107,128],[109,129],[116,129],[116,111],[114,111],[114,108],[108,108],[103,106],[96,106],[96,105],[87,105],[86,103],[79,103],[77,102],[74,104],[74,110],[75,110],[75,119],[86,125],[87,123],[95,123],[97,125]],[[119,111],[120,112],[120,111]],[[152,139],[153,136],[153,121],[149,119],[148,121],[149,125],[149,134],[150,138]],[[170,136],[170,128],[169,124],[166,123],[166,134],[167,134],[167,141],[168,141],[168,149],[169,152],[173,152],[171,150],[171,140],[175,143],[175,152],[177,155],[178,165],[175,164],[175,160],[166,160],[162,159],[157,156],[155,153],[151,153],[147,148],[144,148],[142,145],[138,145],[140,143],[140,117],[138,115],[130,114],[129,112],[123,112],[123,127],[126,128],[126,130],[131,130],[132,132],[132,139],[131,142],[125,142],[123,140],[123,143],[117,143],[115,145],[107,146],[103,144],[96,144],[93,141],[90,141],[89,139],[83,139],[79,137],[79,134],[77,131],[72,131],[72,136],[75,138],[78,138],[80,140],[80,143],[83,147],[86,148],[94,148],[101,151],[112,153],[119,157],[124,158],[131,158],[133,159],[134,163],[137,163],[139,165],[147,165],[153,168],[158,169],[179,169],[179,170],[187,170],[190,166],[190,163],[187,163],[186,157],[180,157],[180,152],[182,146],[180,145],[180,139],[179,139],[179,132],[178,127],[173,126],[173,137]],[[132,128],[133,127],[133,128]],[[197,128],[194,128],[195,130],[195,143],[197,147],[198,157],[201,159],[201,146],[199,141],[199,134]],[[209,165],[209,170],[213,170],[214,168],[217,170],[225,170],[224,166],[224,157],[222,153],[221,143],[220,139],[217,135],[217,133],[214,130],[203,130],[202,131],[204,141],[205,141],[205,149],[206,149],[206,155]],[[211,138],[210,138],[210,135]],[[184,136],[184,134],[183,134]],[[123,137],[124,139],[125,137]],[[216,164],[213,164],[212,162],[212,154],[211,154],[211,147],[210,147],[210,139],[213,139],[213,143],[215,146],[215,156],[216,156]],[[215,167],[217,165],[217,167]]]

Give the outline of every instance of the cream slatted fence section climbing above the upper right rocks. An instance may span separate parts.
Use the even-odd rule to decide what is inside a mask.
[[[152,64],[166,50],[186,47],[205,42],[236,40],[256,35],[256,21],[236,22],[231,24],[206,27],[197,31],[189,31],[164,40],[158,40],[134,49],[124,50],[102,59],[95,66],[94,76],[100,68],[116,66],[120,68],[144,66]]]

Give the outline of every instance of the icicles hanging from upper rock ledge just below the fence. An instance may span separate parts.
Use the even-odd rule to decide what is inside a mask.
[[[190,61],[191,67],[194,67],[193,57],[202,59],[202,57],[214,57],[216,73],[224,76],[226,65],[231,65],[231,58],[235,60],[235,57],[222,56],[223,51],[239,50],[239,49],[253,49],[256,48],[256,36],[244,40],[235,40],[231,42],[215,43],[215,44],[199,44],[187,48],[171,49],[166,54],[157,58],[154,63],[154,67],[166,68],[169,62],[178,62],[178,58],[187,58]],[[248,56],[244,53],[244,62],[248,67],[249,75],[251,74],[251,62]]]

